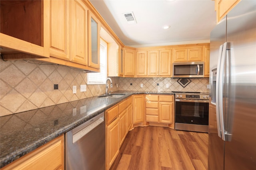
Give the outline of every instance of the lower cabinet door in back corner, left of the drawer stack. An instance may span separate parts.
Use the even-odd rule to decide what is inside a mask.
[[[134,95],[133,97],[133,124],[144,121],[145,99],[144,95]]]

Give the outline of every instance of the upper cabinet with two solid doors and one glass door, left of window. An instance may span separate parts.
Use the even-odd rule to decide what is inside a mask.
[[[99,72],[99,60],[92,54],[99,55],[100,23],[94,19],[98,25],[92,27],[91,18],[95,17],[83,1],[50,0],[50,59],[40,61]],[[96,36],[91,36],[94,31]],[[92,46],[92,39],[98,45]]]

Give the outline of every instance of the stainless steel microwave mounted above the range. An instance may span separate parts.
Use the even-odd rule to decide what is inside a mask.
[[[173,63],[174,78],[196,78],[204,77],[204,62]]]

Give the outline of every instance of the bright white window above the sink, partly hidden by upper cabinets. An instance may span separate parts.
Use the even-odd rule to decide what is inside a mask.
[[[108,44],[100,39],[100,72],[87,73],[87,84],[106,84]]]

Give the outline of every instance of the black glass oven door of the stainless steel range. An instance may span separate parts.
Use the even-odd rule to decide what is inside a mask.
[[[208,125],[209,100],[176,99],[175,123]]]

